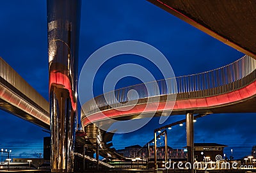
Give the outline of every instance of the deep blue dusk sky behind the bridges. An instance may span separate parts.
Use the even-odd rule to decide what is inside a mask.
[[[83,1],[81,10],[79,71],[95,50],[120,40],[153,45],[168,58],[176,76],[218,68],[243,56],[145,0]],[[0,21],[0,56],[49,100],[46,2],[1,1]],[[130,84],[132,80],[123,81],[120,87]],[[228,145],[225,153],[229,156],[232,148],[235,158],[249,155],[256,144],[255,115],[204,117],[195,124],[195,142]],[[170,117],[165,124],[177,119],[184,116]],[[153,129],[160,126],[157,122],[154,119],[141,130],[115,135],[114,146],[118,149],[134,144],[143,146],[152,139]],[[0,131],[0,148],[12,149],[15,157],[42,153],[43,137],[48,135],[42,128],[3,111],[0,111]],[[185,126],[173,128],[169,136],[169,146],[186,146]]]

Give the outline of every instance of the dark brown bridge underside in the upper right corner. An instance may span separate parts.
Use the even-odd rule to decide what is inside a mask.
[[[255,1],[147,1],[234,49],[256,58]]]

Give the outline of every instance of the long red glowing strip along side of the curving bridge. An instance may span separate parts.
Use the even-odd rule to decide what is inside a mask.
[[[232,91],[230,93],[220,94],[218,96],[211,96],[207,98],[195,98],[188,100],[177,100],[173,107],[173,111],[182,110],[182,109],[205,109],[207,107],[216,107],[220,105],[225,105],[227,103],[234,103],[246,98],[249,98],[253,95],[256,95],[256,80],[252,84],[249,84],[246,87],[241,89],[237,89],[236,91]],[[148,103],[147,109],[146,104],[136,105],[134,108],[128,111],[120,111],[120,110],[106,110],[102,112],[97,112],[90,116],[90,120],[88,117],[82,120],[83,126],[86,126],[89,123],[99,121],[102,119],[106,119],[106,117],[118,117],[118,116],[128,116],[132,114],[140,114],[141,112],[153,112],[153,111],[163,111],[166,109],[166,105],[169,105],[169,102],[160,102],[158,103]],[[172,105],[172,103],[170,104]]]

